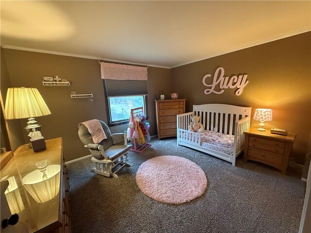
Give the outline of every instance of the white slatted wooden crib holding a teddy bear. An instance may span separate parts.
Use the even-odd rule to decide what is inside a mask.
[[[193,105],[193,111],[177,115],[177,145],[216,156],[235,166],[236,157],[244,148],[243,132],[249,130],[251,107],[240,107],[228,104]],[[205,130],[234,135],[233,153],[227,154],[203,147],[201,133],[188,131],[191,116],[200,116]]]

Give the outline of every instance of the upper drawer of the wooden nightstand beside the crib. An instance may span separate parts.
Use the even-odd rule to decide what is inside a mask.
[[[284,153],[285,144],[283,142],[250,136],[248,143],[250,147],[268,150],[279,154]]]

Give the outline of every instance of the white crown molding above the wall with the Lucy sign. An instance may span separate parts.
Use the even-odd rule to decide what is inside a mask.
[[[198,59],[198,60],[182,63],[182,64],[179,64],[179,65],[170,67],[170,68],[172,69],[172,68],[175,68],[175,67],[181,67],[181,66],[188,65],[188,64],[191,64],[191,63],[194,63],[194,62],[203,61],[203,60],[206,60],[208,58],[217,57],[217,56],[224,55],[224,54],[227,54],[227,53],[230,53],[230,52],[235,52],[235,51],[238,51],[238,50],[247,49],[247,48],[250,48],[250,47],[254,47],[254,46],[257,46],[257,45],[262,45],[262,44],[269,43],[269,42],[272,42],[272,41],[275,41],[275,40],[283,39],[283,38],[290,37],[290,36],[297,35],[297,34],[301,34],[301,33],[307,33],[307,32],[310,32],[310,31],[311,31],[311,28],[306,28],[306,29],[299,30],[299,31],[296,31],[296,32],[293,32],[293,33],[288,33],[288,34],[276,36],[276,37],[273,37],[273,38],[270,38],[270,39],[267,39],[267,40],[262,40],[262,41],[259,41],[259,42],[253,43],[253,44],[245,45],[245,46],[242,46],[242,47],[234,49],[234,50],[228,50],[228,51],[225,51],[225,52],[222,52],[222,53],[218,53],[218,54],[214,54],[214,55],[211,55],[211,56],[208,56],[208,57],[205,57],[205,58],[201,58],[201,59]]]

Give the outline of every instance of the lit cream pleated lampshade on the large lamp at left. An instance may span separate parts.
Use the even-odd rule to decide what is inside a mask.
[[[7,119],[50,115],[51,112],[36,88],[8,88],[5,100]]]

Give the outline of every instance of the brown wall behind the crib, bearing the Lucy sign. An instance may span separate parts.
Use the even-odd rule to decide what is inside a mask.
[[[227,76],[248,74],[242,95],[236,96],[234,89],[204,94],[203,77],[213,77],[218,67]],[[265,128],[296,133],[292,155],[304,163],[311,131],[311,32],[173,68],[171,82],[172,91],[187,99],[187,111],[193,104],[225,103],[253,107],[253,117],[256,108],[271,108],[273,120]],[[258,125],[252,119],[251,127]]]

